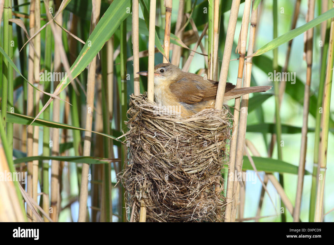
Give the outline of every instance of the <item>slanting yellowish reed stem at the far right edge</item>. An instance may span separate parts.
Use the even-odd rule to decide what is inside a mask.
[[[333,3],[334,7],[334,3]],[[317,199],[315,208],[315,222],[323,221],[323,205],[324,205],[324,189],[325,189],[325,176],[327,166],[327,147],[328,147],[328,132],[329,132],[329,118],[330,118],[330,103],[331,103],[331,90],[333,79],[333,63],[334,63],[334,18],[331,20],[331,30],[329,35],[329,49],[327,59],[327,71],[326,81],[323,96],[323,120],[321,123],[321,146],[320,146],[320,171],[318,175],[318,187],[317,187]]]

